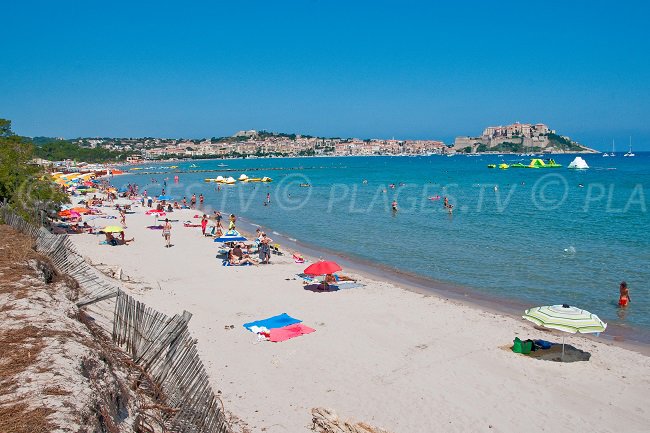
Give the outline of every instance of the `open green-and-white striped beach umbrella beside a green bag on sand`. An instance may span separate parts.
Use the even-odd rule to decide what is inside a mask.
[[[607,323],[587,310],[563,305],[534,307],[521,316],[526,320],[545,328],[575,334],[593,334],[605,331]],[[562,337],[562,357],[564,357],[564,336]]]

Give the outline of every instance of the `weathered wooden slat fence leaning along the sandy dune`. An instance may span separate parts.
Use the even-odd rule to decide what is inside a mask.
[[[113,342],[149,374],[161,391],[161,402],[173,409],[164,415],[169,431],[231,432],[187,328],[190,313],[169,317],[136,301],[90,266],[67,235],[31,224],[2,204],[0,218],[32,237],[36,250],[49,257],[57,271],[75,279],[84,293],[79,307],[115,298]]]

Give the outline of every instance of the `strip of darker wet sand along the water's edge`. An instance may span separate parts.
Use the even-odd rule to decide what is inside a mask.
[[[285,249],[288,245],[293,244],[295,245],[294,250],[299,251],[311,261],[317,261],[320,257],[324,256],[335,257],[336,262],[343,267],[344,272],[349,270],[370,280],[388,282],[401,290],[425,296],[436,296],[440,299],[459,302],[470,308],[505,315],[516,320],[521,319],[521,315],[526,308],[533,307],[533,305],[526,304],[523,301],[507,300],[497,295],[486,294],[471,287],[438,281],[397,268],[383,266],[380,263],[371,262],[359,257],[350,257],[342,251],[330,250],[322,246],[294,240],[294,238],[288,235],[275,232],[272,227],[261,226],[247,218],[237,217],[237,220],[247,225],[246,229],[241,230],[244,234],[250,235],[255,232],[255,228],[261,227],[264,231],[272,235],[271,237],[275,243],[279,243]],[[277,238],[280,238],[280,240],[278,241]],[[611,331],[615,331],[616,335],[612,335]],[[609,344],[650,356],[650,330],[646,331],[638,327],[624,327],[617,324],[610,325],[608,323],[607,330],[599,337],[591,334],[579,334],[578,336],[596,341],[605,340]],[[638,338],[633,338],[635,336]]]

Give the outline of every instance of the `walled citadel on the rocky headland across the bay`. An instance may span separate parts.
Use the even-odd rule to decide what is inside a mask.
[[[456,137],[453,149],[460,153],[597,153],[570,137],[556,134],[543,123],[519,122],[488,126],[479,137]]]

